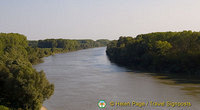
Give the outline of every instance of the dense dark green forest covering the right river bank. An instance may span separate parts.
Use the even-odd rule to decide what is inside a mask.
[[[156,32],[110,42],[109,59],[150,72],[200,75],[200,32]]]

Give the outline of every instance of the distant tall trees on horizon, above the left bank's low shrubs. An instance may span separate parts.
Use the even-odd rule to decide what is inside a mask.
[[[108,43],[109,40],[107,39],[100,39],[97,41],[93,41],[90,39],[45,39],[39,41],[29,41],[29,46],[38,48],[62,48],[63,50],[73,51],[78,49],[107,46]]]

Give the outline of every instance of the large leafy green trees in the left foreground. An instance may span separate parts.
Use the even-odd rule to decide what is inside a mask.
[[[1,33],[0,44],[0,103],[11,109],[39,110],[54,85],[30,61],[44,57],[45,50],[29,47],[25,36],[14,33]]]

